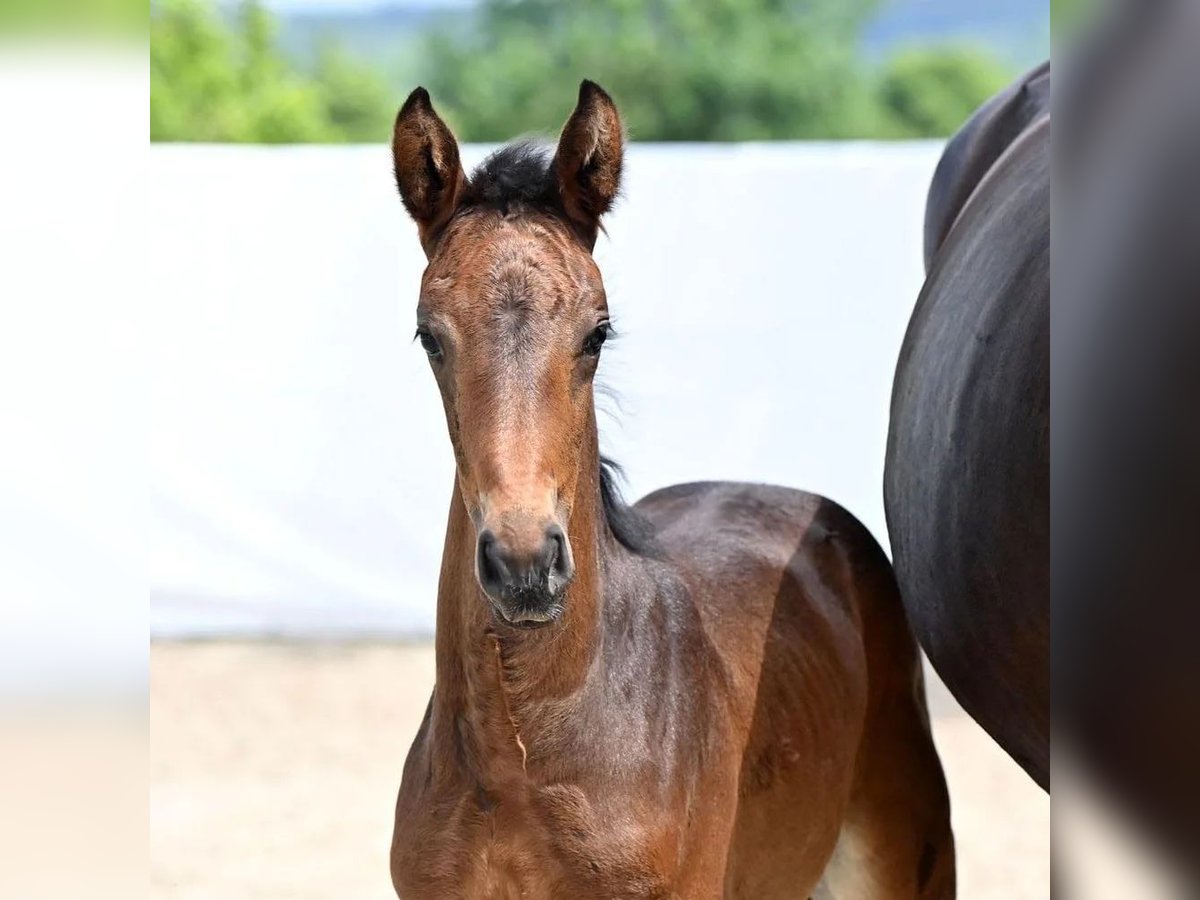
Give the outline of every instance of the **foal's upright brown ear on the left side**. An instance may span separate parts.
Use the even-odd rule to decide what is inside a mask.
[[[404,209],[416,221],[421,246],[428,254],[458,206],[467,178],[458,161],[458,143],[433,112],[424,88],[409,94],[400,108],[391,156]]]

